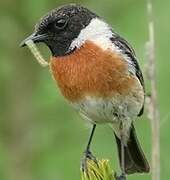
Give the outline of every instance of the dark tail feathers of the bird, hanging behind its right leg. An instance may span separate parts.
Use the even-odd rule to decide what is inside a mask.
[[[119,162],[121,164],[121,141],[116,136],[116,134],[115,137],[118,147]],[[149,172],[149,163],[139,145],[134,126],[132,126],[131,128],[130,138],[127,143],[127,146],[124,147],[124,152],[124,164],[126,174]]]

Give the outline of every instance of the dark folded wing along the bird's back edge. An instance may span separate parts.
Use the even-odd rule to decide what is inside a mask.
[[[140,70],[136,55],[135,55],[135,51],[133,50],[133,48],[129,45],[129,43],[123,39],[122,37],[120,37],[118,34],[113,35],[113,37],[111,38],[111,41],[119,48],[122,50],[122,52],[124,54],[126,54],[129,59],[131,60],[132,66],[135,69],[135,74],[137,76],[137,78],[139,79],[144,91],[145,91],[145,86],[144,86],[144,79],[143,79],[143,75],[142,75],[142,71]],[[141,116],[143,114],[143,110],[144,110],[144,104],[142,109],[140,110],[138,116]]]

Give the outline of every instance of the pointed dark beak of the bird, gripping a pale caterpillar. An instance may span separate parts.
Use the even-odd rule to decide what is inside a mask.
[[[26,42],[28,40],[32,40],[34,43],[38,43],[38,42],[44,42],[45,40],[48,39],[48,37],[49,37],[48,34],[33,33],[20,43],[20,47],[26,46]]]

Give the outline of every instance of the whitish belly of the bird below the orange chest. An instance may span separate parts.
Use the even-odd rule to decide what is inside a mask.
[[[130,94],[122,97],[99,98],[86,96],[73,107],[83,119],[92,123],[114,123],[120,119],[134,119],[143,106],[143,98]]]

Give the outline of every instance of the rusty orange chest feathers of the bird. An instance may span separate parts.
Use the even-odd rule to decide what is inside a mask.
[[[72,54],[51,59],[51,72],[62,94],[71,102],[85,96],[126,94],[135,84],[122,57],[86,42]]]

